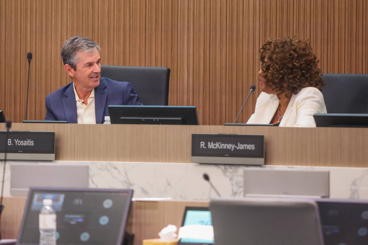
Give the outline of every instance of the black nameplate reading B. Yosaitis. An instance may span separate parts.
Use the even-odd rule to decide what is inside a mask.
[[[0,131],[0,159],[54,160],[55,132],[43,131]]]

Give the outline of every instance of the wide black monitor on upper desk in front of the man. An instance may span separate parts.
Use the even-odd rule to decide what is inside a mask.
[[[112,124],[199,125],[195,106],[109,105]]]

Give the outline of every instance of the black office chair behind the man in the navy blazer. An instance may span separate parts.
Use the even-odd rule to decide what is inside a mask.
[[[101,77],[130,82],[144,105],[169,105],[169,68],[102,65]]]

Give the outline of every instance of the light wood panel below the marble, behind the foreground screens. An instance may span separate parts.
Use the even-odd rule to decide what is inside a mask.
[[[27,198],[4,198],[1,217],[1,238],[14,239],[18,236],[23,210]],[[185,206],[208,206],[198,201],[134,201],[132,202],[126,230],[133,233],[134,245],[142,245],[142,239],[158,238],[159,231],[168,224],[181,226]]]

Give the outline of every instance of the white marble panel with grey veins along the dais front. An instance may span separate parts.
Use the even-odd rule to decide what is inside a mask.
[[[8,161],[6,165],[4,196],[10,196],[10,164],[13,162],[17,161]],[[134,198],[178,200],[209,200],[211,197],[217,197],[216,192],[204,180],[204,173],[209,175],[223,197],[242,197],[243,170],[247,167],[157,162],[53,161],[50,164],[88,165],[90,188],[131,188],[134,190]],[[270,165],[262,167],[329,170],[331,198],[368,199],[368,168]],[[0,165],[1,177],[2,173],[3,162]]]

